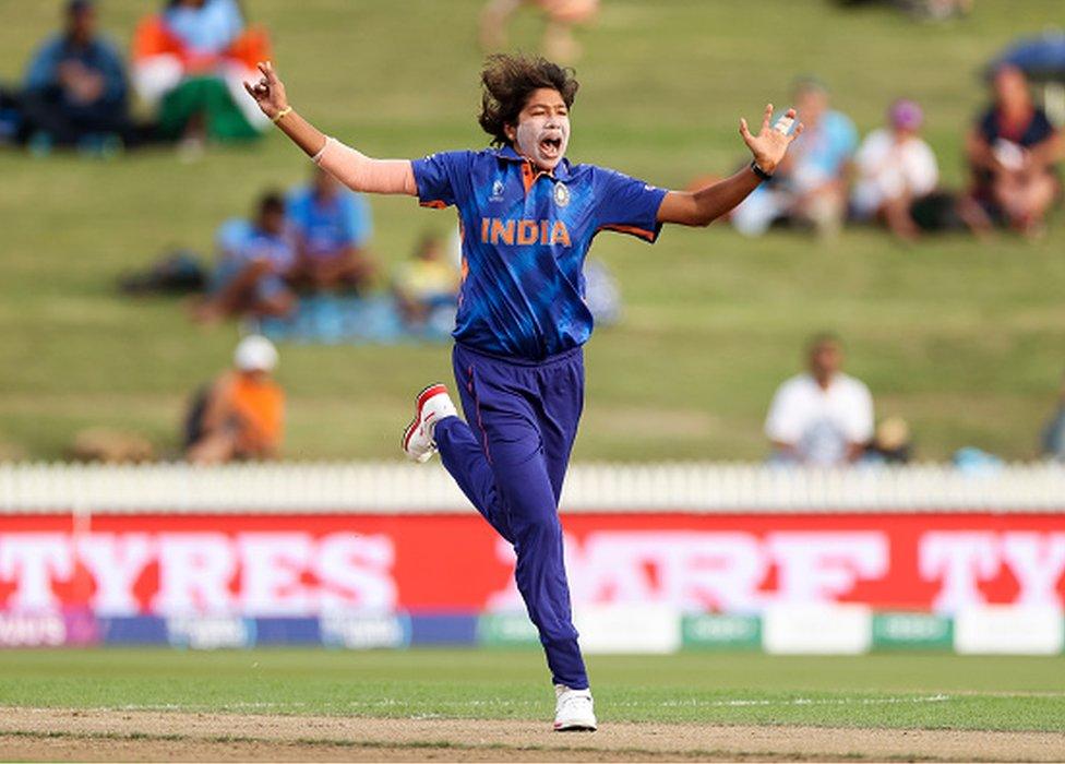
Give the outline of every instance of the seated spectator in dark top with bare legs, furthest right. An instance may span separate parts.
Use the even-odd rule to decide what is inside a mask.
[[[971,194],[993,219],[1034,235],[1061,191],[1054,172],[1062,152],[1060,136],[1032,103],[1020,69],[1000,67],[992,85],[995,102],[966,139]]]

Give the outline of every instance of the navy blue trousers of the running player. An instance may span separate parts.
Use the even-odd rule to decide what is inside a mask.
[[[523,361],[455,345],[452,360],[466,421],[448,417],[436,425],[444,467],[514,545],[517,588],[540,632],[552,680],[584,690],[588,675],[573,628],[559,522],[584,406],[584,354],[576,348]]]

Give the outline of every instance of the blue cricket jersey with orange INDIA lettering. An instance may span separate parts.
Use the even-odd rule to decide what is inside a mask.
[[[423,206],[458,208],[463,286],[452,335],[496,356],[540,360],[591,335],[584,258],[601,230],[654,242],[667,191],[595,165],[551,174],[507,146],[414,163]]]

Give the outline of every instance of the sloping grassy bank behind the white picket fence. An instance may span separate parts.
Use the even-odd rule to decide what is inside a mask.
[[[21,75],[58,3],[0,0],[0,82]],[[123,44],[151,3],[110,0]],[[372,155],[482,145],[472,115],[480,0],[253,0],[275,38],[292,102]],[[1061,22],[1060,0],[978,2],[971,17],[920,25],[826,0],[761,3],[606,0],[582,35],[572,156],[671,187],[742,157],[737,119],[814,72],[864,132],[900,94],[920,99],[947,183],[983,99],[981,64],[1018,35]],[[535,45],[538,22],[514,41]],[[168,300],[116,296],[115,277],[164,248],[208,252],[224,219],[307,163],[278,135],[186,165],[166,151],[98,163],[0,152],[0,455],[53,458],[105,425],[171,447],[191,390],[226,365],[232,326],[192,325]],[[374,200],[374,251],[406,256],[450,214]],[[1061,220],[1058,220],[1060,223]],[[762,418],[804,337],[838,330],[881,416],[912,423],[918,453],[973,444],[1036,452],[1063,368],[1065,234],[1025,243],[967,238],[901,248],[871,231],[830,246],[799,235],[669,230],[654,249],[600,237],[595,253],[625,298],[622,325],[588,349],[588,408],[576,458],[752,458]],[[286,454],[391,458],[410,395],[448,379],[443,347],[286,347]]]

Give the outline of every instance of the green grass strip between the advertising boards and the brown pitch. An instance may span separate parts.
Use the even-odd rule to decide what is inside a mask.
[[[686,654],[589,666],[605,724],[1065,732],[1061,658]],[[545,680],[538,652],[0,653],[9,706],[548,720]]]

